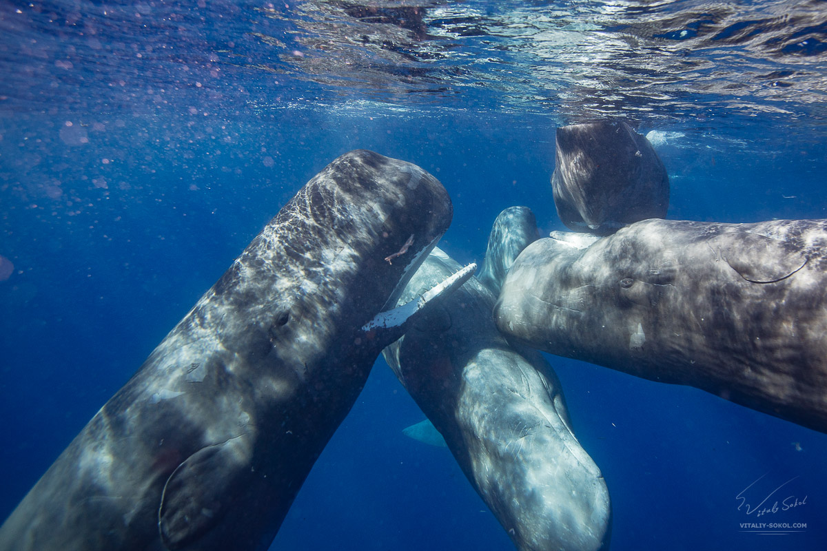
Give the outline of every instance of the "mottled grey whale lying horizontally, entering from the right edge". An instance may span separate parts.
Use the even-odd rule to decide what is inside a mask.
[[[495,307],[504,333],[827,432],[827,221],[552,236],[509,271]]]

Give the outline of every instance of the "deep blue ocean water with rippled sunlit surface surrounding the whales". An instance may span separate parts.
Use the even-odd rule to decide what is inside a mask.
[[[433,173],[480,261],[505,207],[564,229],[555,129],[601,118],[669,218],[827,218],[827,2],[0,2],[0,517],[338,155]],[[547,359],[612,549],[825,549],[827,435]],[[378,359],[271,549],[513,549],[423,418]]]

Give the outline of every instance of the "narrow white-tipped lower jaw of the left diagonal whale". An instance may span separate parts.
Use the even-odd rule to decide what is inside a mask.
[[[432,287],[417,298],[396,306],[392,310],[376,314],[361,330],[365,333],[375,332],[376,339],[384,348],[387,344],[399,339],[418,318],[433,307],[436,307],[466,283],[476,270],[476,264],[471,263],[461,268],[457,273],[445,278],[442,283]]]

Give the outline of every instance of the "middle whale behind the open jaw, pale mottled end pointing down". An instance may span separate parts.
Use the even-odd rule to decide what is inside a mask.
[[[507,209],[491,236],[481,272],[504,274],[537,238],[533,214]],[[458,267],[434,249],[402,300]],[[571,430],[560,381],[535,350],[504,339],[491,317],[499,283],[480,281],[471,278],[415,322],[385,359],[517,549],[608,549],[609,491]]]

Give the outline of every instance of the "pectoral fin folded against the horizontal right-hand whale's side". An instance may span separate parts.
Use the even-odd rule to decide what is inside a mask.
[[[750,283],[777,283],[807,264],[801,249],[765,235],[726,233],[711,241],[721,258]]]

